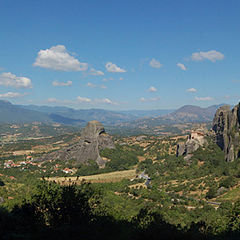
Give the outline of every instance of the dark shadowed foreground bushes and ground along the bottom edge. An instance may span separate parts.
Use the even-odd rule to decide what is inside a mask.
[[[96,215],[89,199],[95,198],[97,202],[98,197],[89,185],[78,188],[42,183],[21,206],[11,211],[0,208],[0,239],[203,240],[239,239],[240,236],[237,232],[210,235],[204,222],[192,223],[189,229],[178,229],[147,208],[129,222],[106,216],[104,210]]]

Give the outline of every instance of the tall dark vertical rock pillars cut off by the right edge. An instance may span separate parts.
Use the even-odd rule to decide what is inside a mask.
[[[220,107],[213,120],[216,143],[224,151],[225,160],[232,162],[239,157],[240,150],[240,104],[232,110],[230,106]]]

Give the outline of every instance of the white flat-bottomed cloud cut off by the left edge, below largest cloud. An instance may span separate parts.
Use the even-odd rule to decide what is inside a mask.
[[[31,88],[31,79],[26,77],[17,77],[16,75],[8,72],[0,74],[0,85],[15,88]]]

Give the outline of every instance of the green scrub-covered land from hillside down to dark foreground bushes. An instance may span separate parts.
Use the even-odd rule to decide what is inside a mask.
[[[226,163],[210,139],[190,161],[169,154],[174,147],[176,141],[171,139],[152,141],[145,151],[139,145],[116,145],[101,151],[101,156],[111,159],[105,169],[89,161],[78,166],[76,173],[136,167],[151,178],[148,188],[141,179],[60,186],[40,180],[43,176],[35,169],[34,174],[1,171],[0,196],[5,199],[0,209],[1,238],[239,239],[240,202],[226,200],[224,194],[238,190],[240,160]],[[138,156],[144,159],[138,162]],[[48,169],[54,164],[45,163]],[[74,166],[74,160],[64,166]]]

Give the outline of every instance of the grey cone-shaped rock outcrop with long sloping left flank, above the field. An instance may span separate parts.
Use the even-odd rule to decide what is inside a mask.
[[[99,150],[114,147],[113,140],[111,136],[106,134],[103,125],[98,121],[91,121],[82,130],[78,144],[47,154],[40,160],[68,161],[75,159],[76,163],[83,164],[86,164],[88,160],[94,160],[99,166],[104,166],[105,162],[100,157]]]

